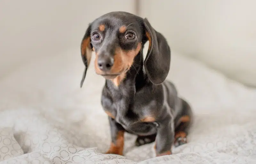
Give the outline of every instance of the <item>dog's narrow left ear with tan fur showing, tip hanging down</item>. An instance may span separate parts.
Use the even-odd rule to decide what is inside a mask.
[[[81,43],[81,56],[85,65],[85,69],[84,69],[83,78],[80,83],[80,87],[83,86],[84,79],[86,76],[86,71],[87,71],[87,68],[89,67],[91,57],[92,57],[92,45],[91,45],[90,35],[91,35],[91,25],[89,25],[89,27],[87,28]]]

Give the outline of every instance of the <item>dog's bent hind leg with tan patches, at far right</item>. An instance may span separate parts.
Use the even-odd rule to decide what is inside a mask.
[[[183,144],[186,144],[187,141],[187,135],[189,132],[189,128],[191,127],[192,124],[192,110],[189,106],[189,104],[181,99],[182,101],[182,111],[179,114],[179,116],[176,117],[175,119],[175,140],[174,140],[174,145],[180,146]]]

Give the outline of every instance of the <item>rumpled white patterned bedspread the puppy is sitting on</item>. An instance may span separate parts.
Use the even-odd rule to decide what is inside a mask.
[[[77,49],[42,56],[0,79],[3,163],[256,162],[256,89],[175,52],[168,78],[195,113],[189,143],[154,158],[153,143],[135,147],[136,137],[125,134],[124,156],[101,154],[110,145],[100,105],[104,79],[91,65],[80,89],[83,69]]]

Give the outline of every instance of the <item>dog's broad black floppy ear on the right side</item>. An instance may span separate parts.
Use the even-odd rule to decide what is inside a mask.
[[[154,84],[164,82],[170,70],[171,49],[164,38],[144,19],[145,33],[149,41],[148,53],[144,61],[145,71]]]

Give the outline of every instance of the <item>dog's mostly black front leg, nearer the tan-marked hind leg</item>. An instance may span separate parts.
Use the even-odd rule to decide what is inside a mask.
[[[158,122],[156,135],[156,156],[172,154],[172,145],[174,142],[174,124],[171,116]]]

